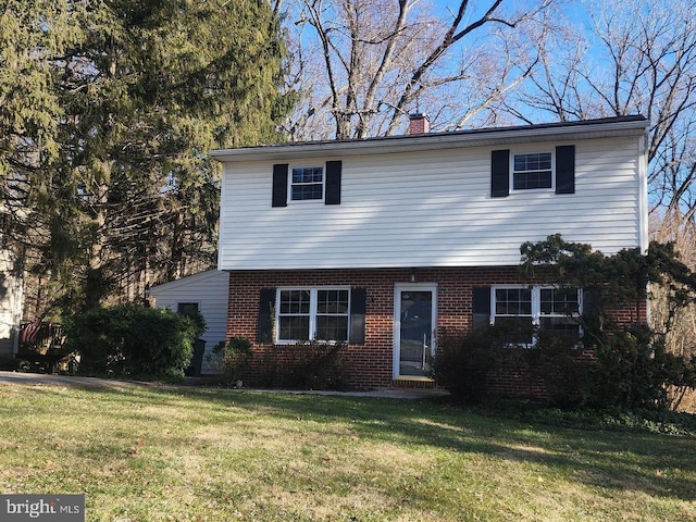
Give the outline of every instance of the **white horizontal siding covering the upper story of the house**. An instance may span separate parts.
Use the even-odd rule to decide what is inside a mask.
[[[605,253],[644,246],[642,139],[525,144],[524,150],[575,145],[572,195],[519,190],[492,198],[490,151],[500,146],[312,159],[343,160],[341,203],[333,207],[272,208],[277,159],[236,159],[224,172],[219,266],[517,265],[522,243],[556,233]]]

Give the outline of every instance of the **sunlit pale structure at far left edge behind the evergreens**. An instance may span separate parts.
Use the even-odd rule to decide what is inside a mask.
[[[0,358],[17,352],[23,282],[11,252],[0,249]]]

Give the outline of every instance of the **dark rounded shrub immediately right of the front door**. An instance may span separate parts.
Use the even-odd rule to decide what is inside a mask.
[[[513,350],[509,328],[488,325],[468,332],[445,332],[438,339],[435,378],[458,402],[475,405],[488,398],[488,374],[499,370]]]

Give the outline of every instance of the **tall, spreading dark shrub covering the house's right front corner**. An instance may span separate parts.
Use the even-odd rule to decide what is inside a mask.
[[[587,290],[580,321],[596,355],[591,406],[664,410],[671,386],[694,388],[696,361],[666,348],[676,312],[696,302],[696,273],[680,261],[674,244],[651,241],[647,252],[632,248],[604,256],[556,234],[525,243],[520,251],[524,276]],[[652,325],[642,306],[650,288],[661,288],[668,310]]]

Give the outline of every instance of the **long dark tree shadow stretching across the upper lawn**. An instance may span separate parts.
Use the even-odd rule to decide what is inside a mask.
[[[32,393],[55,394],[47,386]],[[114,421],[153,420],[148,408],[188,408],[191,423],[253,423],[259,417],[319,423],[322,434],[405,447],[438,448],[532,463],[572,475],[593,487],[650,496],[696,499],[696,439],[656,434],[552,427],[482,417],[436,400],[297,395],[185,387],[95,387],[79,389],[104,401]],[[123,403],[130,407],[123,410]],[[184,402],[186,401],[186,402]],[[114,408],[109,405],[113,402]],[[116,405],[121,406],[115,408]],[[244,413],[244,420],[235,415]],[[65,414],[70,414],[66,412]],[[154,419],[157,421],[157,419]],[[221,421],[222,420],[222,421]],[[334,426],[334,427],[332,427]],[[311,428],[310,428],[311,430]]]

